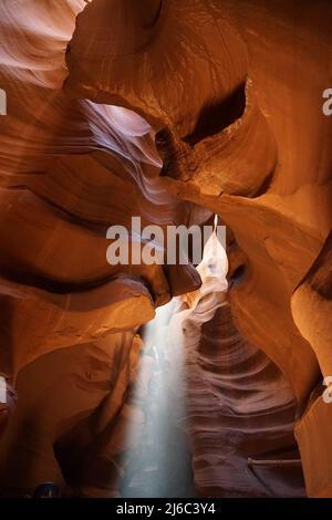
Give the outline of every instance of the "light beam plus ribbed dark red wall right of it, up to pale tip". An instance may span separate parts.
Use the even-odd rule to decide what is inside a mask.
[[[291,389],[237,331],[226,264],[212,237],[200,290],[158,309],[145,327],[133,391],[144,426],[125,457],[125,497],[305,496]]]

